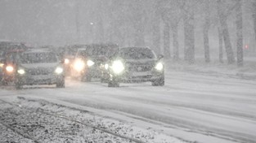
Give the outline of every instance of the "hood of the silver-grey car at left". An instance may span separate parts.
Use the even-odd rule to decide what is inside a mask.
[[[26,69],[34,69],[34,68],[55,68],[60,63],[23,63],[20,64],[20,67],[24,67]]]

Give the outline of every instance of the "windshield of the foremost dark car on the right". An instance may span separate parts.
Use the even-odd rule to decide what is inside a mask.
[[[155,54],[148,48],[124,48],[120,50],[120,56],[126,59],[155,58]]]

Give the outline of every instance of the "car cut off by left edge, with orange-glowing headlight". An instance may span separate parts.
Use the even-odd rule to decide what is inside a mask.
[[[13,82],[15,79],[15,70],[16,70],[16,57],[18,54],[22,53],[25,50],[10,50],[5,53],[4,57],[1,60],[1,85],[8,85]]]

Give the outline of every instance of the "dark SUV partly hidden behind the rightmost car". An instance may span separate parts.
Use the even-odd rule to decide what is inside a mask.
[[[74,58],[73,71],[82,81],[91,81],[92,78],[101,79],[101,68],[119,45],[92,44],[78,50]]]

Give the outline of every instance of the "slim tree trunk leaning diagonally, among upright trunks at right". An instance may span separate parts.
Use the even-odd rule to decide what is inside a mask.
[[[224,15],[223,11],[223,3],[221,0],[218,0],[218,16],[220,20],[220,24],[222,27],[222,36],[224,39],[224,44],[226,48],[226,53],[227,53],[227,63],[235,63],[235,57],[234,57],[234,52],[231,47],[231,41],[230,41],[230,36],[227,28],[227,15]]]

